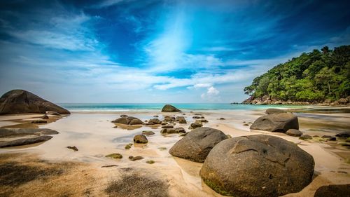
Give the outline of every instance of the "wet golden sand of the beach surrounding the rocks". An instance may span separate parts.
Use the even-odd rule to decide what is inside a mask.
[[[34,125],[38,128],[57,130],[59,134],[41,144],[0,149],[0,170],[3,170],[3,166],[17,163],[13,165],[15,168],[4,168],[5,171],[3,171],[7,170],[8,176],[15,177],[16,168],[25,168],[18,167],[20,163],[28,169],[33,166],[36,170],[44,169],[45,172],[47,171],[44,173],[47,176],[26,179],[25,182],[18,181],[19,184],[11,184],[11,186],[3,184],[1,182],[3,176],[0,176],[0,196],[1,194],[48,196],[48,193],[50,196],[150,196],[150,192],[152,196],[221,196],[200,179],[202,163],[174,158],[168,153],[172,145],[181,139],[179,134],[163,136],[160,134],[160,127],[147,125],[127,128],[120,128],[119,125],[118,128],[113,128],[116,124],[111,121],[118,118],[120,114],[135,116],[142,121],[153,118],[153,115],[158,115],[160,120],[167,115],[185,116],[188,123],[176,123],[175,128],[180,126],[186,131],[189,131],[190,123],[195,121],[192,116],[202,114],[209,121],[204,123],[204,126],[222,130],[232,137],[264,133],[295,142],[304,151],[314,156],[314,180],[299,193],[290,193],[286,196],[313,196],[319,186],[350,183],[349,149],[339,146],[337,142],[321,142],[317,137],[315,140],[306,142],[283,133],[249,130],[251,123],[263,115],[264,111],[72,113],[70,116],[56,118],[47,124],[26,123],[28,120],[40,117],[38,114],[29,114],[0,116],[0,125],[11,127],[16,127],[19,123],[24,127]],[[300,112],[296,114],[300,117],[300,130],[309,135],[335,135],[350,130],[350,114]],[[218,120],[221,117],[225,120]],[[248,126],[244,123],[248,123]],[[152,130],[155,135],[148,136],[148,144],[133,144],[134,135],[140,134],[143,130]],[[129,143],[133,144],[132,148],[125,149],[125,145]],[[67,146],[76,146],[78,151],[67,149]],[[123,158],[105,157],[113,153],[122,154]],[[144,159],[130,161],[129,156],[143,156]],[[146,163],[150,160],[155,163]],[[50,168],[60,170],[61,173],[57,175],[52,172],[52,174]],[[40,170],[27,171],[41,174]],[[149,182],[152,184],[147,184]]]

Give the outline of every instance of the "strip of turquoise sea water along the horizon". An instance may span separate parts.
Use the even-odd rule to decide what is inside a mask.
[[[160,110],[164,103],[61,103],[60,106],[69,111],[136,111]],[[227,103],[179,103],[173,104],[183,111],[196,110],[254,110],[269,107],[291,108],[300,106],[291,105],[253,105],[253,104],[227,104]]]

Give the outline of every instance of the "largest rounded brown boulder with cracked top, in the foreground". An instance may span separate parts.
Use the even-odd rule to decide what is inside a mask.
[[[314,158],[296,144],[269,135],[223,140],[211,149],[200,176],[225,196],[283,196],[301,191]]]

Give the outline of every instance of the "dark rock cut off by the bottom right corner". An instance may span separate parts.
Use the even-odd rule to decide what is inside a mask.
[[[349,197],[350,184],[331,184],[319,187],[314,197]]]

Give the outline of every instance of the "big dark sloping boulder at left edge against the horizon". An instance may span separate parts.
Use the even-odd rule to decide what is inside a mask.
[[[10,90],[0,97],[0,114],[45,114],[46,111],[71,114],[57,104],[26,90]]]

